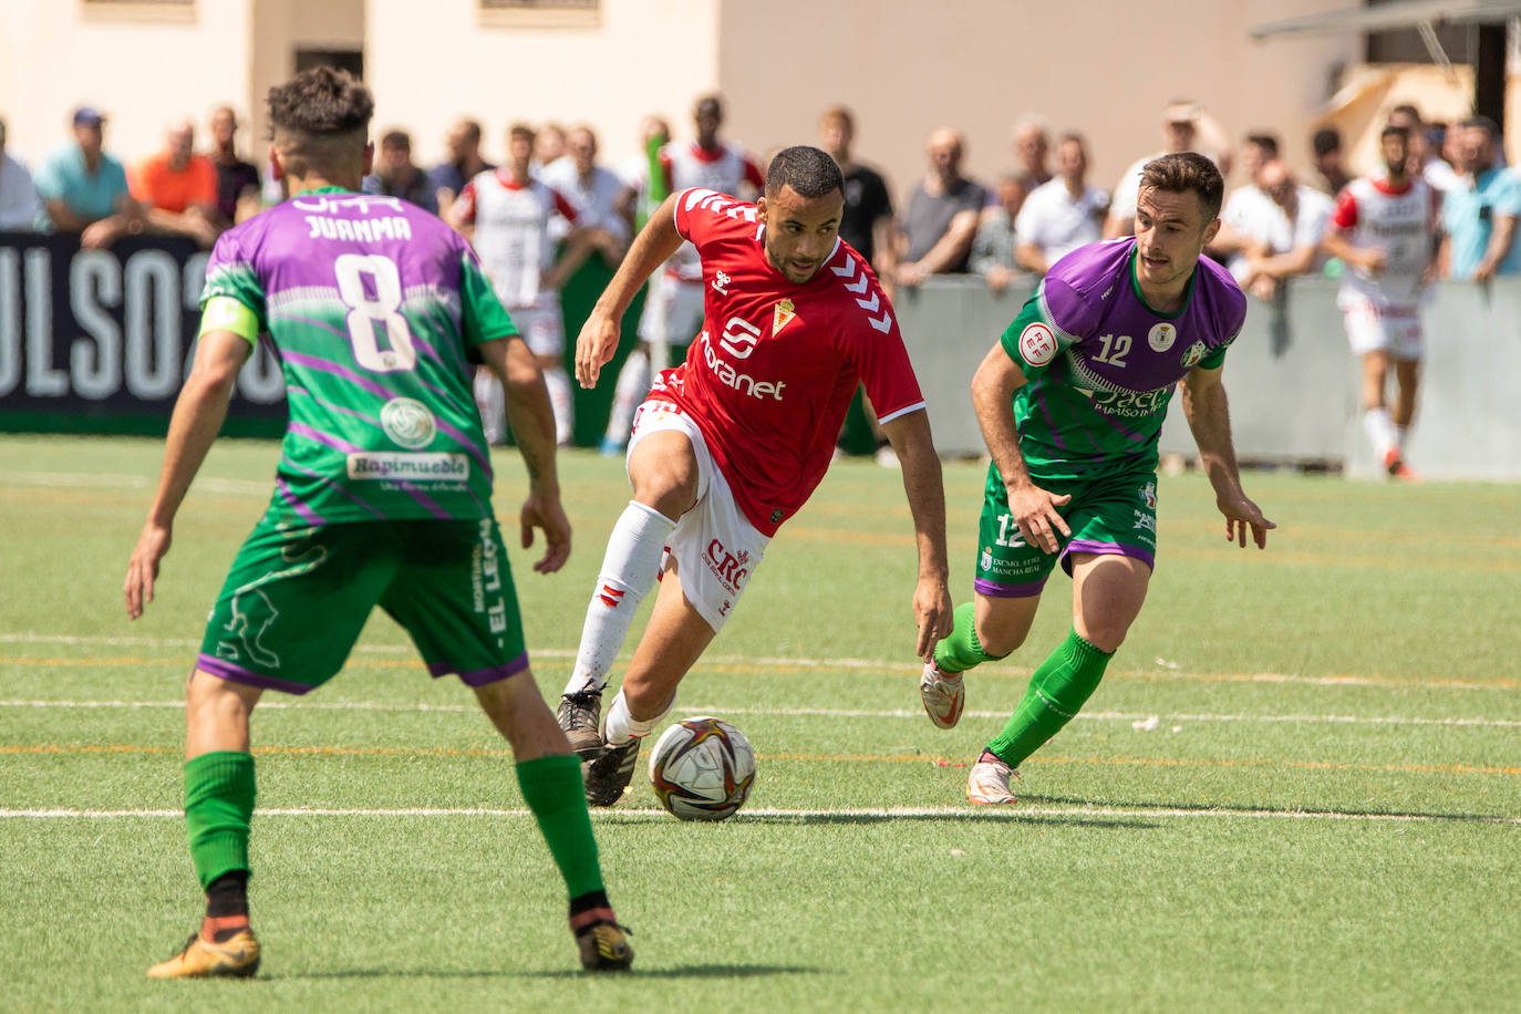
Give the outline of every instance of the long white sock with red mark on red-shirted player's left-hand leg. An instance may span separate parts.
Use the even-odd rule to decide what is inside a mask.
[[[675,521],[634,500],[618,517],[613,534],[607,537],[592,604],[586,608],[581,648],[566,693],[599,692],[607,686],[607,673],[628,637],[628,625],[649,588],[656,587],[660,553],[672,531]]]

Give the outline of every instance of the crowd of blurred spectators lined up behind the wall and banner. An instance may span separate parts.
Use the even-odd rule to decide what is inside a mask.
[[[1425,123],[1411,105],[1389,112],[1389,123],[1411,138],[1410,175],[1442,195],[1443,277],[1488,280],[1521,274],[1516,217],[1521,176],[1504,166],[1498,128],[1472,117]],[[640,125],[640,147],[651,131],[669,137],[663,120]],[[6,149],[0,120],[0,228],[78,233],[87,248],[120,236],[184,236],[210,246],[216,236],[281,198],[278,182],[262,179],[237,149],[239,122],[218,106],[207,123],[208,144],[196,149],[196,126],[167,125],[161,151],[123,164],[105,146],[106,117],[81,106],[67,143],[27,169]],[[1054,134],[1042,116],[1021,116],[1011,132],[1010,167],[992,187],[963,172],[966,135],[951,126],[925,138],[926,172],[894,208],[882,175],[855,152],[855,122],[844,106],[826,109],[818,143],[846,175],[841,234],[862,251],[888,287],[916,286],[931,275],[981,275],[1004,290],[1021,275],[1040,275],[1068,251],[1133,228],[1141,166],[1157,154],[1199,151],[1238,181],[1221,213],[1224,228],[1209,254],[1227,263],[1241,284],[1272,298],[1285,278],[1334,274],[1322,239],[1334,198],[1352,172],[1342,137],[1325,126],[1308,138],[1313,178],[1300,179],[1270,132],[1250,132],[1240,144],[1205,109],[1173,102],[1161,116],[1161,149],[1136,158],[1112,187],[1089,179],[1089,141],[1077,132]],[[456,220],[455,202],[467,184],[496,169],[482,157],[481,125],[462,119],[447,134],[447,158],[423,167],[412,158],[412,137],[388,129],[379,137],[371,193],[402,198]],[[1053,164],[1054,157],[1054,164]],[[598,163],[598,138],[587,126],[543,123],[534,131],[531,172],[561,193],[589,230],[580,257],[614,261],[636,225],[640,176],[649,160],[630,166]]]

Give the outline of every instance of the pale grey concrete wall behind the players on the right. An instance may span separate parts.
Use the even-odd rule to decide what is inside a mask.
[[[899,324],[941,453],[984,452],[967,386],[1031,290],[1025,281],[995,296],[976,278],[935,278],[899,293]],[[1521,409],[1513,392],[1521,377],[1521,280],[1488,290],[1439,286],[1425,328],[1410,464],[1430,477],[1521,479]],[[1302,280],[1276,306],[1253,299],[1224,369],[1237,455],[1378,474],[1363,435],[1358,375],[1335,309],[1335,283]],[[1194,452],[1176,397],[1162,448]]]

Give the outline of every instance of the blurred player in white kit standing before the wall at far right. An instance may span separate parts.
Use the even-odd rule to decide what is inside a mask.
[[[1383,172],[1342,190],[1323,248],[1348,266],[1337,306],[1352,353],[1363,360],[1363,427],[1384,470],[1415,480],[1419,476],[1405,464],[1404,447],[1416,410],[1421,299],[1431,281],[1439,195],[1405,172],[1405,128],[1386,126],[1380,149]],[[1396,388],[1392,412],[1384,398],[1390,362]]]

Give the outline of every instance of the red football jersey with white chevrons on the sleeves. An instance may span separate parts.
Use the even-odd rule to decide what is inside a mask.
[[[656,391],[692,417],[770,537],[824,477],[858,383],[884,423],[925,398],[893,307],[849,243],[794,284],[767,260],[753,204],[683,190],[675,228],[703,257],[703,333]]]

